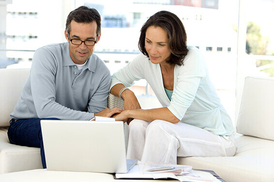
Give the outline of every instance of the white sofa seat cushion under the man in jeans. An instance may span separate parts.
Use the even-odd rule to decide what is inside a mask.
[[[7,128],[0,128],[0,174],[43,168],[40,148],[9,143]]]

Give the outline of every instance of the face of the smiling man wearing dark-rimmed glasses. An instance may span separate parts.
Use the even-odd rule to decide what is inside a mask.
[[[70,39],[93,40],[96,41],[97,23],[92,21],[91,23],[77,23],[72,20],[71,31],[69,33]],[[68,32],[65,31],[65,37],[69,41]],[[101,34],[98,35],[97,42],[100,40]],[[94,51],[94,46],[86,46],[84,42],[81,45],[74,45],[69,41],[69,54],[72,61],[77,65],[84,64]]]

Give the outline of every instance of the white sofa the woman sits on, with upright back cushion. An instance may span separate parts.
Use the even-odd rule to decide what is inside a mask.
[[[246,77],[233,157],[179,157],[227,182],[274,182],[274,79]]]

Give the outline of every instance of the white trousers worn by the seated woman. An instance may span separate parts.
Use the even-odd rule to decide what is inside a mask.
[[[177,164],[180,157],[233,156],[234,134],[220,136],[184,123],[134,119],[129,124],[127,158]]]

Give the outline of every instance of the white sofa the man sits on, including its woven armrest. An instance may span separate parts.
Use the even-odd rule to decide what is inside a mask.
[[[30,69],[0,69],[0,174],[43,168],[40,148],[17,146],[9,143],[7,131],[10,114],[20,97]],[[110,95],[108,108],[123,107],[123,100]],[[125,123],[127,147],[127,130]]]

